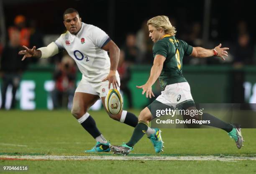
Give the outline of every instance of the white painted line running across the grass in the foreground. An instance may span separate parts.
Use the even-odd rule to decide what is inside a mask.
[[[0,159],[17,159],[17,160],[157,160],[157,161],[241,161],[254,160],[256,157],[245,156],[56,156],[56,155],[41,155],[41,156],[10,156],[0,155]]]

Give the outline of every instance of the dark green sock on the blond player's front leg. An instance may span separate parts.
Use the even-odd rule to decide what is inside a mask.
[[[133,135],[128,143],[127,146],[133,147],[146,133],[148,130],[148,123],[146,121],[139,121],[136,127],[134,128]]]

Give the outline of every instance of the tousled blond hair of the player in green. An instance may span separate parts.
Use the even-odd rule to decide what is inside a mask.
[[[148,20],[147,26],[154,26],[157,30],[163,29],[166,34],[175,36],[176,28],[172,26],[169,18],[167,16],[156,16]]]

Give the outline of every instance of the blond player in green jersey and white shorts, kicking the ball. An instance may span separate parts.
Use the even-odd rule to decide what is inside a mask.
[[[147,26],[149,37],[151,37],[154,42],[154,64],[146,84],[137,86],[137,88],[143,90],[142,95],[146,93],[146,97],[151,98],[154,96],[152,85],[156,82],[156,79],[159,78],[162,92],[154,102],[141,111],[138,117],[138,125],[136,125],[134,129],[130,141],[120,146],[110,146],[115,154],[129,154],[133,146],[143,137],[148,129],[148,123],[156,118],[156,113],[151,110],[154,104],[170,105],[172,108],[181,108],[184,110],[196,110],[189,84],[182,75],[182,59],[184,55],[199,58],[217,56],[223,60],[225,60],[224,56],[228,56],[228,52],[226,51],[228,48],[221,48],[221,44],[214,49],[204,49],[202,47],[192,47],[185,41],[176,38],[176,30],[167,16],[151,18],[148,20]],[[202,121],[205,125],[215,128],[221,128],[236,141],[238,148],[243,146],[241,129],[237,125],[225,123],[207,113],[203,113],[202,115],[198,114],[193,117],[183,115],[183,117]],[[162,142],[160,132],[159,136],[156,134],[155,138],[157,141]],[[163,151],[163,147],[163,143],[159,143],[158,147],[155,147],[155,149],[158,149],[160,152]]]

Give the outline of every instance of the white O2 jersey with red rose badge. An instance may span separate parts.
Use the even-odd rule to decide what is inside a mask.
[[[110,71],[108,52],[102,49],[109,41],[109,36],[100,28],[82,23],[76,35],[67,31],[54,43],[59,50],[67,50],[87,81],[101,82]]]

